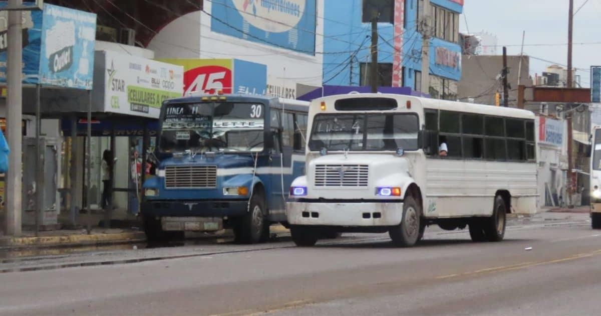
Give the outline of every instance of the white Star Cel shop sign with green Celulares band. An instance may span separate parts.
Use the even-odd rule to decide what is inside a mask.
[[[104,65],[105,111],[158,118],[166,99],[183,95],[183,67],[111,51]]]

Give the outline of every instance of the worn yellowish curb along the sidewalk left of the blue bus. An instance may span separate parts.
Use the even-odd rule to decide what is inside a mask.
[[[46,237],[0,238],[0,247],[69,247],[100,244],[123,244],[146,241],[144,232],[121,232],[115,234],[67,235]]]

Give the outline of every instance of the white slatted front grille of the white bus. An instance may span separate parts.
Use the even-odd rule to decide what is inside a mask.
[[[365,164],[318,164],[315,166],[316,187],[367,187],[369,166]]]

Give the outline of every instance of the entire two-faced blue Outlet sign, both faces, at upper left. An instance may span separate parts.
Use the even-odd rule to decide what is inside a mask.
[[[23,83],[91,90],[96,14],[51,4],[43,8],[22,11]],[[6,82],[7,29],[8,13],[0,11],[0,82]]]

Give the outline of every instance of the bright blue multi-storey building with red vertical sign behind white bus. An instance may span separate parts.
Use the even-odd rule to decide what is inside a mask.
[[[378,18],[378,85],[421,90],[422,30],[430,36],[430,85],[433,98],[456,99],[461,78],[459,16],[463,0],[325,1],[323,84],[370,85],[371,16]]]

